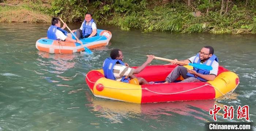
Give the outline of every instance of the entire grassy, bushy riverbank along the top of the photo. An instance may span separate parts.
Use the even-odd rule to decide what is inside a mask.
[[[81,22],[89,11],[97,24],[124,31],[256,33],[256,0],[193,0],[189,5],[188,1],[27,0],[17,7],[0,7],[0,22],[50,22],[50,16],[61,16],[73,23]]]

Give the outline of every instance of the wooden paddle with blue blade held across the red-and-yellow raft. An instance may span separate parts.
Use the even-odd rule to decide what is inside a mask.
[[[149,55],[147,55],[147,57],[148,56]],[[156,56],[154,56],[154,59],[163,60],[163,61],[169,61],[169,62],[174,61],[174,60],[171,60],[171,59],[165,59],[165,58],[156,57]],[[196,68],[199,68],[199,69],[212,70],[211,66],[205,65],[205,64],[187,63],[187,62],[182,62],[182,61],[176,61],[176,62],[179,63],[179,64],[191,65],[192,67],[196,67]]]

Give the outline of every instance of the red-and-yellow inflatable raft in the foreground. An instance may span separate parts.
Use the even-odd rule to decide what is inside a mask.
[[[147,66],[136,76],[143,77],[148,82],[163,82],[176,66]],[[192,69],[191,66],[185,67]],[[177,81],[182,79],[180,77]],[[234,91],[239,84],[238,76],[221,66],[219,66],[217,77],[208,82],[136,85],[106,79],[103,70],[88,72],[85,80],[96,97],[132,103],[210,100]]]

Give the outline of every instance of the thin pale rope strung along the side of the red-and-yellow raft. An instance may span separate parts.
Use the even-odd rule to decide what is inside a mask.
[[[88,78],[87,78],[87,74],[86,74],[86,79],[91,82],[91,83],[94,83],[98,86],[101,86],[100,84],[97,84],[95,82],[92,82],[90,81]],[[173,94],[179,94],[179,93],[183,93],[183,92],[188,92],[188,91],[192,91],[192,90],[196,90],[196,89],[199,89],[201,87],[204,87],[204,86],[211,86],[213,88],[215,88],[218,92],[220,92],[223,96],[226,96],[227,94],[233,92],[236,88],[234,88],[234,90],[228,92],[227,94],[223,94],[218,88],[212,86],[211,84],[204,84],[203,86],[200,86],[200,87],[196,87],[196,88],[193,88],[193,89],[189,89],[189,90],[186,90],[186,91],[180,91],[180,92],[174,92],[174,93],[160,93],[160,92],[155,92],[155,91],[151,91],[149,90],[148,88],[141,88],[141,89],[138,89],[138,88],[129,88],[129,89],[122,89],[122,88],[113,88],[113,87],[107,87],[107,86],[103,86],[103,87],[106,87],[106,88],[111,88],[111,89],[117,89],[117,90],[147,90],[147,91],[150,91],[150,92],[153,92],[155,94],[161,94],[161,95],[173,95]],[[236,86],[237,87],[237,86]]]

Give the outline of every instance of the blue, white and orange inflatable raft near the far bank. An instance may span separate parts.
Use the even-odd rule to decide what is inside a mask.
[[[91,49],[108,45],[111,37],[111,32],[97,29],[97,36],[81,39],[83,45],[74,42],[50,40],[45,37],[37,40],[35,47],[39,51],[45,51],[49,53],[74,53],[84,51],[83,46]],[[72,39],[75,40],[75,37],[72,36]]]

